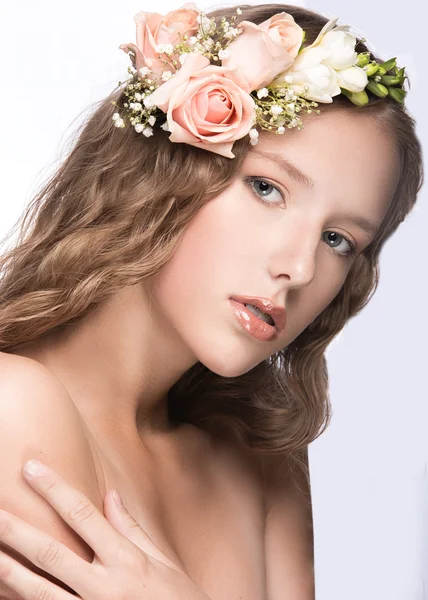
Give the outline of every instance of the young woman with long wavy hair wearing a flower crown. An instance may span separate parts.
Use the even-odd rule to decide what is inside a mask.
[[[415,203],[420,144],[403,71],[346,28],[278,4],[207,17],[221,50],[195,5],[136,16],[135,87],[2,259],[6,598],[314,597],[325,350]]]

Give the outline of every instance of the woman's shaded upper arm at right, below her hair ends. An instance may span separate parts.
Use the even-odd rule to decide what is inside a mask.
[[[308,454],[305,454],[308,468]],[[267,600],[314,600],[314,541],[308,478],[288,457],[262,459],[266,486]]]

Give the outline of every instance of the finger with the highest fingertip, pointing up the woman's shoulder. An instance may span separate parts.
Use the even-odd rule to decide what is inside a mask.
[[[68,525],[92,548],[102,563],[112,564],[129,541],[110,525],[96,506],[53,469],[38,461],[26,463],[23,475]]]

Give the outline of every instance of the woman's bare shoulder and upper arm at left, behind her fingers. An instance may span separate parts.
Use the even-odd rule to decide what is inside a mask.
[[[91,558],[84,542],[23,479],[22,465],[32,458],[54,468],[102,511],[90,443],[67,390],[37,361],[0,352],[0,507]]]

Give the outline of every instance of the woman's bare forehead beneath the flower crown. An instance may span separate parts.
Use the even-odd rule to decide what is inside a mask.
[[[258,152],[274,153],[313,180],[310,193],[332,199],[352,197],[355,202],[364,195],[369,204],[385,209],[399,172],[393,136],[357,111],[323,114],[322,106],[320,110],[320,115],[303,115],[302,131],[289,129],[283,135],[262,132],[246,160],[260,164],[265,158]]]

